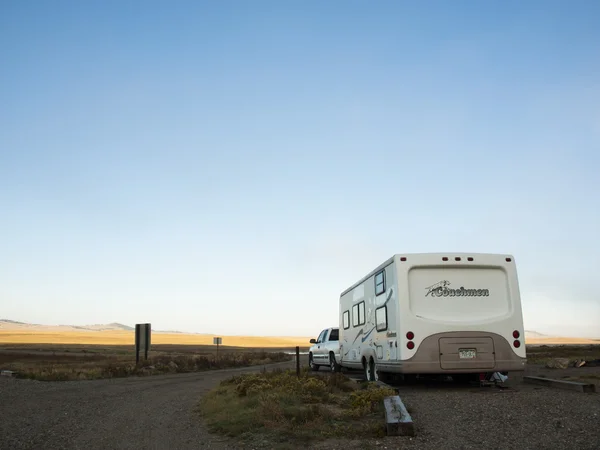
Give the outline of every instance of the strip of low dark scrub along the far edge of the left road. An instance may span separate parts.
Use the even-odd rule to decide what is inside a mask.
[[[44,354],[47,353],[47,354]],[[187,373],[206,370],[255,366],[289,361],[283,352],[224,352],[219,357],[209,354],[160,354],[135,363],[133,355],[115,353],[31,353],[0,352],[0,368],[12,370],[19,378],[42,381],[93,380],[128,376],[148,376],[167,373]]]

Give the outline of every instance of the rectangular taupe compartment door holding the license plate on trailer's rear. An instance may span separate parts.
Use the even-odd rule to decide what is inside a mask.
[[[442,369],[493,369],[495,364],[492,338],[440,338]]]

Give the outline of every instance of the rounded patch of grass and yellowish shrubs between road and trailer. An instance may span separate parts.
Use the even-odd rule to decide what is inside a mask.
[[[341,373],[307,370],[243,374],[221,382],[199,406],[209,430],[249,445],[310,443],[335,437],[385,435],[383,399],[395,391],[358,384]]]

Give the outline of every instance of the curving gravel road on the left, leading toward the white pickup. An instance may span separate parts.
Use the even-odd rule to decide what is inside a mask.
[[[0,449],[231,448],[207,434],[195,409],[219,381],[262,367],[69,382],[0,377]]]

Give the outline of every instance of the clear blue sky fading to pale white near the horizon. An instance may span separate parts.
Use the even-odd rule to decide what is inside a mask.
[[[3,1],[0,317],[314,335],[393,253],[600,336],[600,4]]]

